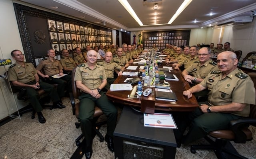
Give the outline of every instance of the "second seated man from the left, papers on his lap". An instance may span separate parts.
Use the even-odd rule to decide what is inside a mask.
[[[46,81],[50,84],[58,84],[57,92],[60,98],[65,96],[65,88],[67,90],[66,95],[68,96],[68,92],[72,92],[72,85],[71,85],[71,76],[66,75],[59,79],[53,78],[51,76],[59,74],[60,76],[63,75],[63,67],[60,64],[60,61],[54,59],[55,52],[53,49],[49,49],[47,51],[48,58],[42,60],[36,69],[38,70],[38,75],[45,78]],[[44,70],[45,75],[41,72],[42,69]],[[66,81],[66,82],[65,82]]]

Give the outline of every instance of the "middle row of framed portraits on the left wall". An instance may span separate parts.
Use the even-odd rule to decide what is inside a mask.
[[[49,32],[51,43],[111,43],[111,37]]]

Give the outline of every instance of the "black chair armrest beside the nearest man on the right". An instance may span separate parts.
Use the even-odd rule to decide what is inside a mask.
[[[250,124],[255,124],[256,119],[253,118],[241,118],[237,120],[230,121],[231,130],[235,134],[235,143],[245,143],[247,141],[246,134],[242,131],[243,128],[248,128]]]

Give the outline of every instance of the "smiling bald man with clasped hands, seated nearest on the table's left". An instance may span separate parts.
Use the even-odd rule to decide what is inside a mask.
[[[108,143],[108,149],[114,151],[113,133],[116,127],[117,110],[108,100],[106,92],[102,91],[107,83],[107,77],[104,67],[97,65],[97,53],[90,50],[87,53],[88,62],[78,65],[74,80],[77,88],[82,91],[79,96],[79,120],[81,130],[86,139],[85,155],[86,159],[92,156],[92,118],[94,116],[95,104],[102,110],[108,118],[107,134],[105,140]]]

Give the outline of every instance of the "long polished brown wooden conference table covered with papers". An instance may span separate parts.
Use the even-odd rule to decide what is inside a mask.
[[[133,66],[137,64],[132,64]],[[166,66],[166,64],[162,64]],[[138,65],[136,70],[127,70],[126,71],[139,71],[141,65]],[[158,66],[162,67],[162,66]],[[183,95],[184,90],[188,90],[190,88],[190,85],[188,82],[185,81],[183,78],[180,70],[174,70],[172,68],[171,73],[176,75],[176,77],[179,79],[178,81],[167,81],[170,83],[170,89],[175,92],[178,100],[176,102],[169,102],[164,100],[155,100],[155,110],[160,111],[193,111],[196,107],[198,107],[198,102],[196,101],[195,96],[193,95],[192,98],[187,98]],[[128,76],[118,76],[117,79],[114,81],[115,84],[125,83],[124,80],[128,78]],[[130,77],[133,78],[133,77]],[[137,84],[132,84],[132,86],[136,86]],[[152,88],[152,94],[154,93],[154,88]],[[140,96],[140,98],[127,98],[128,94],[130,94],[131,91],[110,91],[106,93],[108,98],[112,100],[113,102],[128,105],[128,106],[135,106],[135,107],[141,107],[142,99],[153,99],[154,95],[150,94],[149,96],[145,97],[143,95]]]

